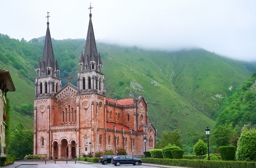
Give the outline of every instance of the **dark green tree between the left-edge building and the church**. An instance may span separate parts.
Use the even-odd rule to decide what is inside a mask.
[[[33,153],[33,130],[24,130],[22,123],[17,123],[11,132],[9,154],[20,157]]]

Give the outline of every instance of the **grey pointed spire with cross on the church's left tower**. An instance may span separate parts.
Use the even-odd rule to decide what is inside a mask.
[[[39,76],[48,76],[52,75],[57,77],[57,74],[59,73],[58,63],[54,60],[54,54],[52,49],[52,39],[49,29],[49,12],[47,12],[47,29],[46,29],[46,35],[45,35],[45,46],[43,50],[43,57],[42,62],[39,63],[37,69],[39,70]]]

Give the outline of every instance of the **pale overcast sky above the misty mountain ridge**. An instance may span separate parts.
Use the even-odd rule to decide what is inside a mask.
[[[29,41],[86,38],[138,47],[200,47],[256,61],[256,0],[1,0],[0,34]]]

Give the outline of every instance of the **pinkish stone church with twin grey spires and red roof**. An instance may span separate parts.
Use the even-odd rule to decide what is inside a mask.
[[[47,20],[43,57],[36,67],[34,155],[71,159],[125,148],[130,156],[144,156],[145,150],[154,148],[156,139],[156,129],[148,120],[148,102],[143,96],[117,100],[105,95],[103,63],[94,38],[92,7],[89,9],[77,87],[70,82],[62,87]]]

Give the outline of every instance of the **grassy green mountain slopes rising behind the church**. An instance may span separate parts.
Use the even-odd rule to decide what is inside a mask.
[[[63,86],[67,76],[76,84],[81,50],[85,39],[52,39],[54,56],[61,69]],[[0,68],[11,73],[15,92],[8,92],[12,105],[11,125],[22,122],[33,129],[34,77],[43,38],[29,42],[0,34]],[[148,101],[148,116],[164,130],[179,129],[185,137],[188,127],[204,132],[212,128],[222,107],[219,102],[230,96],[252,72],[253,63],[231,60],[204,49],[156,51],[97,43],[105,74],[106,96],[115,99],[138,97]]]

